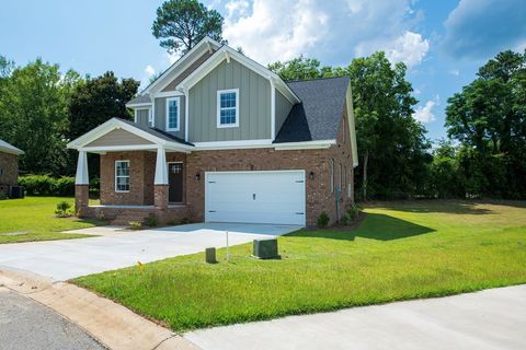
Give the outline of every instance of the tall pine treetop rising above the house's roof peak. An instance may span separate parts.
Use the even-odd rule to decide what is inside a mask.
[[[169,52],[186,54],[205,36],[222,42],[222,23],[219,12],[197,0],[168,0],[157,9],[151,31]]]

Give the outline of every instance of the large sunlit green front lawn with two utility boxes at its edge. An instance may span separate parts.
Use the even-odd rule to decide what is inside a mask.
[[[526,283],[526,202],[389,202],[354,231],[279,238],[282,260],[204,254],[75,280],[172,329]]]

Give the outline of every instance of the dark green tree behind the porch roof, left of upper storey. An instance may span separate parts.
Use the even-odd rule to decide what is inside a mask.
[[[76,139],[114,117],[132,120],[126,103],[137,94],[138,88],[138,81],[122,79],[118,82],[113,72],[88,78],[78,84],[69,104],[69,139]]]

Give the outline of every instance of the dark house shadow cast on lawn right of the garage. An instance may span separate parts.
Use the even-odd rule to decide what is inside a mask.
[[[422,226],[405,220],[379,213],[366,213],[362,223],[354,230],[345,231],[331,228],[316,231],[296,231],[288,237],[319,237],[330,240],[354,241],[364,237],[379,241],[392,241],[434,232],[434,229]]]

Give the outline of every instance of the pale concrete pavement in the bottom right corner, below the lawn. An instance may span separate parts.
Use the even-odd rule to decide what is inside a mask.
[[[526,349],[526,285],[184,335],[206,350]]]

